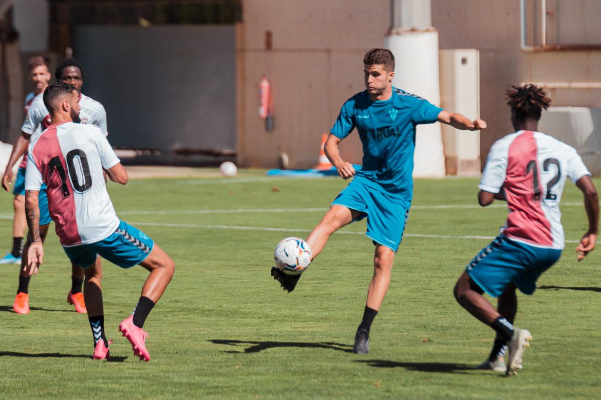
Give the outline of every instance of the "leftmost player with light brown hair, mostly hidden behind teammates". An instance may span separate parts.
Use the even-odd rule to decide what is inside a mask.
[[[34,85],[34,90],[25,97],[25,115],[27,110],[31,106],[34,97],[42,93],[48,86],[52,75],[48,68],[48,63],[44,58],[37,56],[29,59],[29,80]],[[40,129],[38,127],[38,129]],[[21,263],[21,252],[23,249],[23,236],[25,235],[25,228],[27,227],[27,221],[25,219],[25,167],[27,166],[27,155],[23,155],[21,164],[19,164],[19,170],[17,172],[17,179],[14,182],[13,194],[13,207],[14,207],[14,219],[13,219],[13,249],[0,259],[0,264],[20,264]],[[11,169],[12,174],[12,169]],[[10,190],[12,184],[12,176],[5,190]]]

